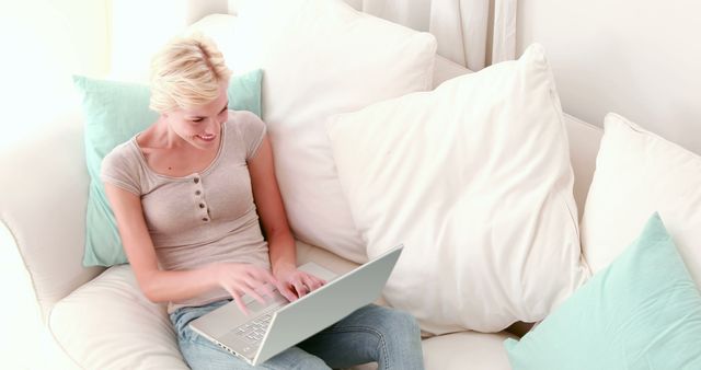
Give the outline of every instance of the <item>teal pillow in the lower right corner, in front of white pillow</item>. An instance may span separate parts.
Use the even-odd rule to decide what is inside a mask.
[[[609,267],[504,345],[514,369],[701,369],[701,294],[655,213]]]

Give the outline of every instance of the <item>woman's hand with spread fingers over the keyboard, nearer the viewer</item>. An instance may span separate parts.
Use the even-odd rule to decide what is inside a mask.
[[[249,311],[241,296],[249,294],[265,304],[261,293],[273,298],[274,288],[278,285],[271,271],[255,265],[219,263],[211,267],[217,284],[231,294],[239,309],[246,315]]]

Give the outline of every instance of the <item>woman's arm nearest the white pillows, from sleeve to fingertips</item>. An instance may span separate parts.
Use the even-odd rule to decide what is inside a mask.
[[[249,172],[253,198],[268,243],[273,275],[281,282],[280,292],[290,301],[295,300],[321,287],[324,281],[297,269],[295,239],[287,223],[267,135],[249,160]]]

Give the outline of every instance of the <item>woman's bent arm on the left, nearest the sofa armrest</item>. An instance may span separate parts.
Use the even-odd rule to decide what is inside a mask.
[[[161,270],[143,219],[141,199],[108,183],[105,183],[105,193],[131,269],[143,294],[152,302],[186,300],[222,287],[245,312],[241,301],[242,293],[261,302],[263,298],[256,290],[271,294],[264,285],[275,284],[275,279],[265,269],[253,265],[222,263],[191,270]]]

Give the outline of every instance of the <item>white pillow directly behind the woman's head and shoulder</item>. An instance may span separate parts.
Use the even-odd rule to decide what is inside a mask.
[[[264,70],[263,118],[296,236],[367,261],[324,123],[332,114],[430,89],[435,38],[341,0],[254,0],[240,8],[231,45],[222,49],[235,50],[225,51],[234,73]]]

